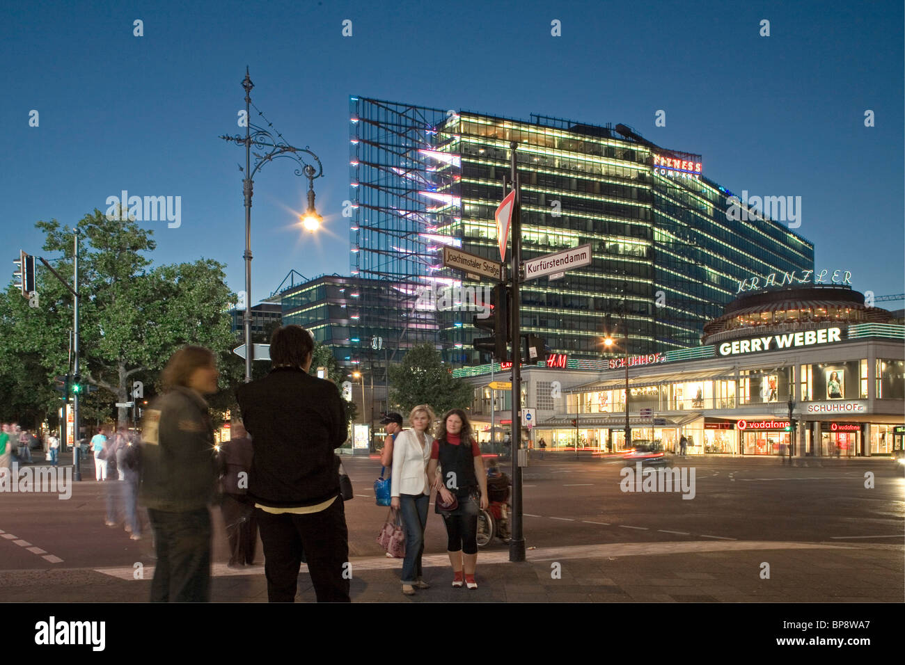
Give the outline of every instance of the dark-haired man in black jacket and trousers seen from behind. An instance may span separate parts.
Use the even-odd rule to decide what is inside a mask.
[[[264,546],[271,603],[292,603],[304,551],[318,602],[349,602],[348,529],[334,449],[347,438],[336,385],[308,374],[314,342],[300,326],[271,337],[271,373],[239,388],[252,435],[248,495]]]

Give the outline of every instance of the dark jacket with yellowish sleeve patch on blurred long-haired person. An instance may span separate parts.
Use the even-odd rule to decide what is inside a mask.
[[[167,512],[205,508],[218,496],[219,477],[207,403],[194,390],[176,386],[145,413],[138,499]]]

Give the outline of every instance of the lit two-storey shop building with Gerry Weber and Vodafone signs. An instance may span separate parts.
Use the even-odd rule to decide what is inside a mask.
[[[842,320],[806,325],[806,331],[765,325],[748,330],[748,337],[733,330],[735,350],[730,344],[722,354],[719,342],[630,362],[633,444],[677,451],[685,436],[692,455],[769,456],[788,454],[790,446],[795,457],[902,454],[905,328]],[[486,385],[487,371],[458,375],[479,386]],[[603,359],[594,366],[569,357],[565,368],[523,366],[522,377],[522,403],[537,409],[532,442],[542,437],[554,450],[627,447],[624,364]],[[486,415],[479,410],[473,417]]]

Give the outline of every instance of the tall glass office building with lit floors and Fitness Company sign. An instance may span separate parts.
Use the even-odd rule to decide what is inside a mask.
[[[522,332],[555,353],[604,355],[601,337],[622,337],[623,316],[631,354],[696,347],[742,280],[814,269],[814,245],[783,224],[755,210],[733,219],[731,192],[705,176],[700,155],[624,125],[352,97],[350,128],[351,272],[405,285],[397,292],[409,298],[477,285],[443,268],[443,245],[499,261],[493,214],[519,143],[523,259],[592,247],[591,265],[522,286]],[[472,312],[431,316],[447,361],[480,362]]]

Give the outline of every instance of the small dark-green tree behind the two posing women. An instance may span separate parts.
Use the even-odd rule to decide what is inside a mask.
[[[389,379],[390,400],[399,404],[403,413],[417,404],[430,404],[438,415],[472,404],[472,385],[454,378],[429,342],[412,347],[402,363],[390,366]]]

